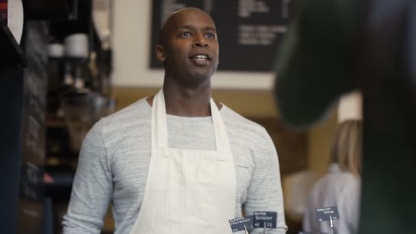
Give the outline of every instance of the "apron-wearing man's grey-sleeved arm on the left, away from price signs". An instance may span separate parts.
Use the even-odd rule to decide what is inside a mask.
[[[101,233],[113,192],[102,125],[103,120],[97,122],[83,140],[68,212],[62,222],[65,234]]]

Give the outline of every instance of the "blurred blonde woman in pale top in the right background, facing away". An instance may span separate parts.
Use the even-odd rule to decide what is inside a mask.
[[[337,206],[334,234],[358,232],[361,196],[361,120],[346,120],[337,129],[330,151],[328,174],[311,190],[303,219],[304,231],[330,233],[328,222],[318,222],[315,209]]]

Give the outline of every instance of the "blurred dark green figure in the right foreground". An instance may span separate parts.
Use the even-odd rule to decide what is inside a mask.
[[[341,94],[361,90],[359,233],[416,233],[416,1],[302,4],[278,56],[281,116],[307,129]]]

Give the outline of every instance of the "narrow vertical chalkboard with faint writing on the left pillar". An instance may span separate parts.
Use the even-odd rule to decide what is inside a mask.
[[[22,163],[18,233],[42,233],[47,25],[29,21],[25,30],[27,68],[23,72]]]

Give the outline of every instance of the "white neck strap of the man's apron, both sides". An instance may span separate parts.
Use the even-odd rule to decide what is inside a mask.
[[[216,149],[217,151],[230,152],[229,138],[218,107],[213,99],[209,101],[209,105],[211,107],[211,117],[216,138]],[[151,136],[152,148],[168,148],[166,103],[163,90],[159,90],[153,99]]]

